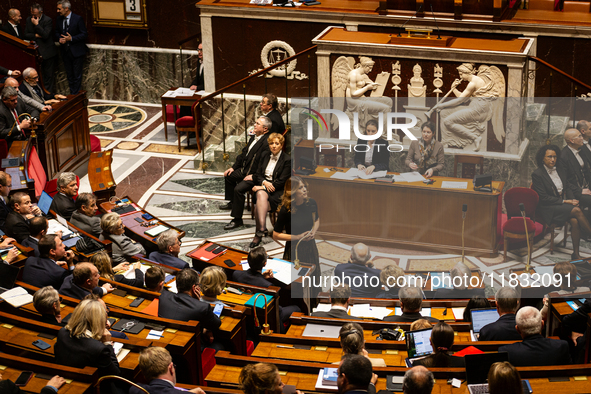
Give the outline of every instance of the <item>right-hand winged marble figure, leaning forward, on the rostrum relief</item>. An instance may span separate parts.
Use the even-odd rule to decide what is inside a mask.
[[[460,79],[452,83],[450,92],[453,91],[458,98],[447,102],[442,100],[431,109],[441,113],[441,142],[445,147],[474,151],[486,149],[483,140],[486,143],[489,120],[497,140],[502,142],[505,136],[504,100],[500,98],[505,97],[505,77],[501,70],[482,65],[476,71],[470,63],[464,63],[457,69]],[[468,82],[468,86],[460,92],[456,88],[464,81]],[[462,105],[466,102],[468,105]]]

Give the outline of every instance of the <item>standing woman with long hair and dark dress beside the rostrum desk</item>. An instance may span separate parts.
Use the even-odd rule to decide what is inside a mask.
[[[319,283],[320,257],[315,236],[320,227],[320,218],[316,201],[308,197],[307,186],[304,180],[298,176],[292,176],[287,180],[281,204],[278,208],[277,221],[273,229],[273,239],[286,241],[283,259],[295,259],[297,254],[300,261],[314,265],[315,270],[312,279],[313,282]],[[283,234],[283,231],[285,231],[285,234]],[[316,297],[318,289],[318,287],[313,289],[312,297]]]

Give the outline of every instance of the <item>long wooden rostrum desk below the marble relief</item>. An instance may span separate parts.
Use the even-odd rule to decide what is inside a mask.
[[[471,179],[433,177],[435,183],[382,183],[331,179],[336,171],[319,166],[303,176],[308,196],[318,203],[318,235],[331,241],[365,242],[404,249],[460,254],[462,205],[466,254],[497,255],[504,182],[493,182],[492,193],[474,191]],[[347,171],[348,169],[342,169]],[[442,181],[467,182],[466,189],[441,188]]]

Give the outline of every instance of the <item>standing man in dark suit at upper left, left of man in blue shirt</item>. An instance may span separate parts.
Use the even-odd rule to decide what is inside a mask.
[[[53,21],[43,13],[41,5],[38,3],[33,4],[31,6],[31,16],[27,18],[25,25],[25,39],[35,41],[37,44],[39,54],[43,57],[41,62],[43,86],[52,93],[57,66],[57,48],[53,38]]]

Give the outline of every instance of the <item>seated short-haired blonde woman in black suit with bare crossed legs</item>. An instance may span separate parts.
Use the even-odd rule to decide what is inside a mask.
[[[256,234],[250,243],[250,248],[256,248],[267,233],[267,212],[277,210],[281,202],[285,182],[291,174],[291,158],[282,152],[285,138],[279,133],[272,133],[267,139],[269,151],[263,152],[259,166],[253,176],[255,186],[255,220]]]

